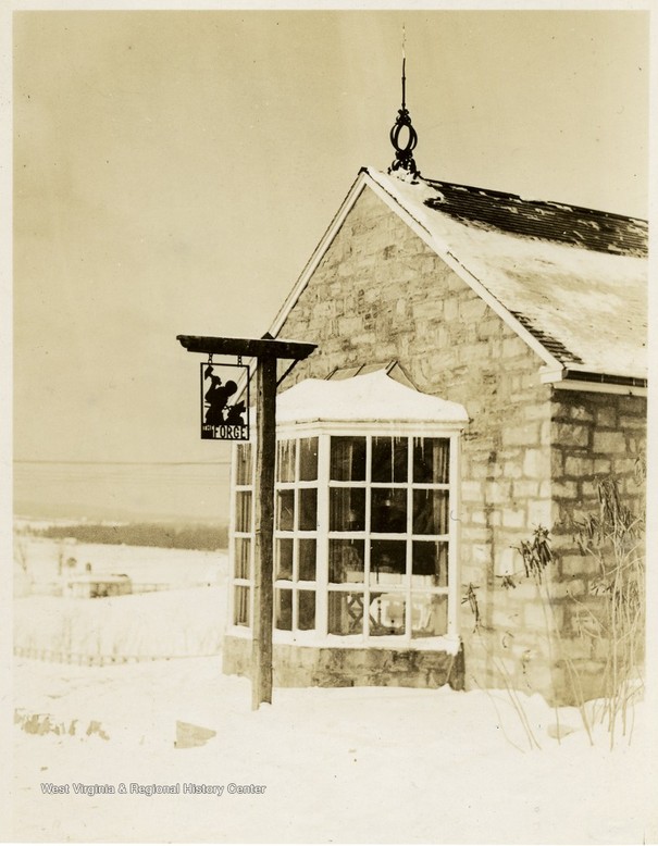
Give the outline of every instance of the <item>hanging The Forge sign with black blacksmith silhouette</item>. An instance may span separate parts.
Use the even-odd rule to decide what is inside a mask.
[[[239,361],[239,359],[238,359]],[[247,386],[238,400],[240,378]],[[201,364],[201,437],[206,440],[249,440],[249,366]]]

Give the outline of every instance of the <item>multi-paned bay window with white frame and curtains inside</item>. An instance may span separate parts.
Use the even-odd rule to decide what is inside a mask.
[[[374,423],[277,432],[275,642],[420,646],[456,634],[459,433],[426,423],[395,432]],[[234,455],[231,621],[246,633],[252,445]]]

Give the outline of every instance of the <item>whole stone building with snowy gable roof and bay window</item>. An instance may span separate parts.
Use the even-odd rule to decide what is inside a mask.
[[[318,345],[277,400],[275,684],[569,701],[568,658],[594,696],[605,639],[583,619],[603,600],[573,525],[604,477],[643,510],[646,223],[399,159],[359,173],[270,329]],[[224,655],[246,674],[250,451]],[[542,584],[520,551],[539,527]]]

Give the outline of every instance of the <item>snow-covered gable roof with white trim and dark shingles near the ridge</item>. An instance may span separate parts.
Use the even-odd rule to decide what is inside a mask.
[[[546,364],[546,381],[646,384],[647,224],[363,169],[273,326],[371,188]]]

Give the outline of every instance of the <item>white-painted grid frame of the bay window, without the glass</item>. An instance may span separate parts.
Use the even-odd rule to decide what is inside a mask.
[[[386,424],[381,421],[365,421],[365,422],[327,422],[327,423],[298,423],[298,424],[284,424],[277,426],[276,440],[277,445],[280,440],[291,440],[302,438],[318,438],[318,480],[301,482],[299,481],[299,444],[296,447],[296,474],[295,482],[290,483],[275,483],[275,498],[276,492],[280,489],[295,489],[296,492],[301,487],[316,487],[318,489],[318,525],[315,532],[300,531],[296,527],[291,531],[282,531],[274,528],[274,549],[276,550],[277,540],[281,538],[291,538],[294,540],[294,576],[298,574],[298,546],[295,543],[298,539],[312,537],[316,540],[316,565],[315,565],[315,582],[299,582],[298,580],[274,581],[274,590],[280,587],[284,589],[293,589],[293,630],[284,631],[274,627],[273,640],[274,643],[282,644],[298,644],[298,645],[314,645],[314,646],[336,646],[336,647],[360,647],[368,648],[413,648],[413,649],[439,649],[442,643],[447,646],[450,644],[450,648],[454,648],[456,639],[459,637],[459,526],[460,521],[458,514],[460,511],[459,500],[459,466],[460,466],[460,449],[461,449],[461,426],[455,423],[430,423],[424,421],[409,421],[408,423],[392,423]],[[331,437],[367,437],[367,477],[361,482],[338,482],[330,480],[330,444]],[[412,480],[412,461],[413,450],[408,449],[408,472],[406,482],[376,482],[374,487],[380,488],[402,488],[407,490],[407,532],[396,533],[372,533],[370,528],[370,514],[371,514],[371,495],[373,484],[371,480],[371,449],[373,437],[408,437],[411,438],[411,447],[414,438],[447,438],[450,441],[449,445],[449,475],[448,483],[414,483]],[[237,485],[237,449],[238,445],[234,445],[234,456],[232,461],[231,473],[231,519],[229,519],[229,600],[228,600],[228,621],[227,633],[235,636],[250,637],[251,624],[253,621],[253,525],[254,525],[254,458],[256,458],[256,444],[252,439],[251,445],[251,480],[249,485]],[[365,530],[363,532],[330,532],[330,489],[332,487],[363,487],[365,489]],[[448,532],[446,535],[419,535],[413,534],[411,531],[412,525],[412,498],[413,492],[418,489],[447,489],[449,496],[449,520]],[[240,490],[251,492],[251,514],[250,514],[250,531],[249,532],[236,532],[236,493]],[[295,493],[297,503],[297,493]],[[296,513],[297,509],[296,509]],[[275,509],[276,517],[276,509]],[[235,538],[236,537],[250,537],[250,556],[249,556],[249,580],[236,578],[235,573]],[[371,635],[368,634],[368,613],[364,613],[365,627],[361,634],[350,635],[335,635],[327,634],[327,610],[328,610],[328,594],[332,592],[345,592],[349,593],[363,593],[365,601],[373,590],[373,586],[369,584],[368,578],[368,563],[364,561],[364,581],[358,584],[332,584],[330,588],[328,583],[328,540],[330,538],[362,539],[364,544],[365,555],[370,556],[370,540],[371,539],[386,539],[386,540],[405,540],[407,543],[406,560],[407,560],[407,573],[404,577],[402,585],[390,585],[390,593],[405,595],[405,608],[406,608],[406,623],[405,634],[395,635]],[[446,587],[413,587],[410,578],[411,567],[411,545],[414,540],[447,540],[448,543],[448,584]],[[275,574],[274,574],[275,575]],[[249,625],[236,625],[234,624],[234,599],[236,586],[249,586]],[[299,589],[313,589],[315,590],[315,627],[313,630],[296,630],[295,624],[297,622],[297,601],[296,592]],[[376,593],[381,590],[374,588]],[[445,635],[433,635],[429,637],[412,637],[411,636],[411,595],[446,595],[447,596],[447,633]]]

